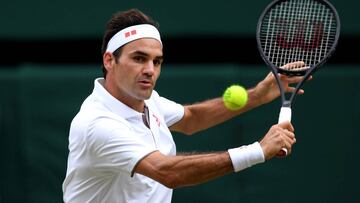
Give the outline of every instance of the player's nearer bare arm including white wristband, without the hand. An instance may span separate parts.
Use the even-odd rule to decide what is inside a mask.
[[[169,188],[196,185],[264,161],[259,143],[228,152],[165,156],[153,152],[135,169]]]

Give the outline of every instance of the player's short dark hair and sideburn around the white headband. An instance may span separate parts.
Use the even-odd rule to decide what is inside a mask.
[[[145,15],[138,9],[130,9],[127,11],[121,11],[113,14],[112,18],[106,24],[106,31],[103,36],[103,42],[101,47],[101,55],[104,55],[108,42],[116,33],[127,27],[140,24],[150,24],[159,29],[159,24],[157,22],[155,22],[153,19],[151,19],[149,16]],[[118,60],[120,54],[121,47],[113,52],[116,60]],[[102,69],[105,78],[107,71],[104,65],[102,65]]]

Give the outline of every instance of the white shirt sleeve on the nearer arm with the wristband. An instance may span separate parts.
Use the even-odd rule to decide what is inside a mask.
[[[92,154],[93,165],[107,170],[126,171],[132,174],[136,164],[151,152],[146,145],[124,123],[112,118],[98,118],[88,129],[87,147]]]

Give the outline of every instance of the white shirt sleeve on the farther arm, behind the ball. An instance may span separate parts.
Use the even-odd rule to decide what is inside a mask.
[[[185,113],[183,105],[159,96],[156,91],[153,91],[152,97],[164,116],[165,123],[168,127],[183,118]]]

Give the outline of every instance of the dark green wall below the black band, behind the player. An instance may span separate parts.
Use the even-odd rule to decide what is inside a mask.
[[[174,192],[173,202],[358,202],[359,65],[328,65],[293,106],[297,144],[285,159]],[[166,65],[158,92],[180,103],[254,86],[265,66]],[[72,117],[90,94],[94,65],[23,65],[0,70],[0,202],[61,202]],[[178,151],[217,151],[259,140],[276,123],[279,100],[193,137]]]

